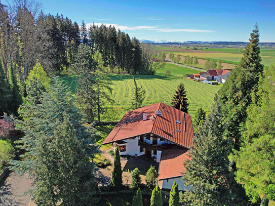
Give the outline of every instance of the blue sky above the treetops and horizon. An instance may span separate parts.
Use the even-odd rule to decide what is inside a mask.
[[[43,0],[44,13],[81,23],[114,24],[149,40],[248,41],[257,22],[261,42],[275,42],[275,1]]]

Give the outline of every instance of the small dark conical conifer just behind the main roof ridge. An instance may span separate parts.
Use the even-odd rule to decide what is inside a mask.
[[[185,113],[188,113],[188,100],[186,98],[186,92],[183,83],[178,85],[178,90],[175,91],[176,94],[174,95],[171,105],[172,107],[179,109]]]

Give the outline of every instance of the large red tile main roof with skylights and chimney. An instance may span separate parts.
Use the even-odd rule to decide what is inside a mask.
[[[154,115],[156,110],[160,110],[162,116]],[[142,121],[144,113],[147,114],[147,120]],[[152,125],[150,118],[153,115],[155,120]],[[132,120],[128,121],[130,119]],[[176,120],[181,123],[177,123]],[[162,102],[128,111],[102,144],[149,133],[189,148],[194,137],[191,116]]]

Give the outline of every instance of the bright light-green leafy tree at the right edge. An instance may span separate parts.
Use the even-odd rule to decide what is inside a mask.
[[[243,185],[252,203],[261,198],[267,206],[275,200],[275,68],[260,78],[259,90],[252,93],[248,107],[244,144],[237,152],[236,180]]]

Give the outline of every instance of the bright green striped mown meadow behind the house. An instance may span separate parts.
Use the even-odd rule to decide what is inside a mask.
[[[171,71],[171,75],[165,76],[167,70]],[[112,98],[115,101],[113,107],[122,108],[121,116],[118,118],[121,118],[131,106],[134,92],[133,77],[135,77],[138,87],[142,86],[143,90],[146,91],[144,106],[161,101],[170,104],[178,84],[183,82],[189,101],[189,114],[193,117],[199,107],[209,112],[213,104],[213,98],[221,88],[221,85],[207,85],[183,77],[185,74],[199,72],[198,70],[167,63],[165,68],[159,70],[155,75],[108,74],[113,83],[111,86],[113,89]],[[61,76],[61,78],[75,93],[76,77]],[[111,107],[112,105],[107,104],[106,106]]]

